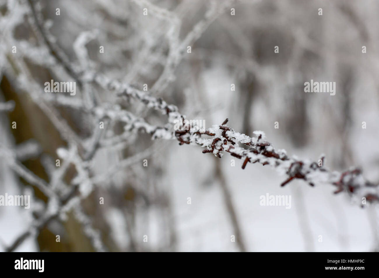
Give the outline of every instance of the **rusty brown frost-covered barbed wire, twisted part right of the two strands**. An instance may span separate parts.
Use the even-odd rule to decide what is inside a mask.
[[[280,186],[285,186],[293,179],[302,179],[310,186],[315,186],[315,183],[329,183],[337,187],[334,194],[345,191],[350,195],[360,196],[368,202],[379,201],[377,192],[378,185],[365,180],[360,169],[352,169],[339,173],[337,171],[330,172],[324,168],[324,156],[320,158],[321,164],[316,162],[307,162],[290,158],[284,150],[276,150],[271,143],[265,140],[265,134],[261,131],[254,132],[257,138],[251,138],[247,135],[235,132],[226,124],[229,119],[226,119],[220,126],[213,126],[207,132],[213,138],[203,139],[199,132],[191,133],[190,130],[176,131],[175,135],[179,144],[197,144],[206,149],[203,153],[213,153],[221,158],[222,151],[229,152],[230,155],[243,160],[242,169],[246,168],[248,162],[271,165],[274,168],[279,168],[285,171],[288,178],[281,183]],[[238,143],[249,146],[244,149],[238,146]]]

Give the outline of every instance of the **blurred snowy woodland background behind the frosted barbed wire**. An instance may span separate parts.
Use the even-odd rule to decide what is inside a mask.
[[[361,208],[332,185],[280,187],[285,175],[268,165],[243,170],[229,154],[151,140],[112,111],[155,126],[167,116],[86,81],[147,84],[207,128],[229,118],[289,156],[325,154],[329,169],[359,167],[377,184],[378,11],[374,0],[0,0],[0,195],[32,196],[30,210],[0,207],[2,251],[25,231],[12,250],[378,251],[377,204]],[[45,95],[50,79],[76,81],[77,94]],[[305,93],[311,79],[336,82],[336,94]],[[291,208],[261,206],[266,194],[291,196]]]

